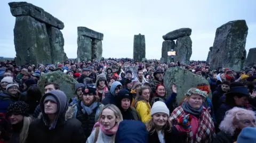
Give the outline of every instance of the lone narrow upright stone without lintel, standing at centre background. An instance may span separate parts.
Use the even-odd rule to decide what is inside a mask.
[[[146,56],[146,44],[144,35],[134,35],[133,39],[133,60],[142,61],[142,58]]]

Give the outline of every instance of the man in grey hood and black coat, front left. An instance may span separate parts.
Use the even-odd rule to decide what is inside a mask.
[[[84,142],[82,123],[66,114],[68,103],[63,91],[52,90],[41,101],[41,119],[29,125],[27,143],[30,142]]]

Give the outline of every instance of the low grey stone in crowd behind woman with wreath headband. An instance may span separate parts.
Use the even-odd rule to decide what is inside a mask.
[[[200,75],[196,75],[186,69],[180,67],[169,68],[164,74],[164,86],[167,94],[170,95],[172,92],[172,85],[175,84],[177,87],[177,100],[178,103],[185,97],[184,94],[188,89],[196,87],[200,83],[206,83],[209,85],[209,82]],[[208,95],[211,99],[212,94]]]

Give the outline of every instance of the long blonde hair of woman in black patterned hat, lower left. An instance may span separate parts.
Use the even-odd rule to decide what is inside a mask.
[[[30,123],[33,121],[32,117],[30,116],[24,116],[23,117],[23,127],[20,132],[20,143],[25,143],[28,137],[28,128]]]

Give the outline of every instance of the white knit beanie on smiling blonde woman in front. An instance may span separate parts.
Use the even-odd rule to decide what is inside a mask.
[[[168,117],[170,116],[169,108],[167,108],[165,103],[161,101],[155,102],[150,110],[151,116],[153,116],[156,113],[165,113],[168,115]]]

